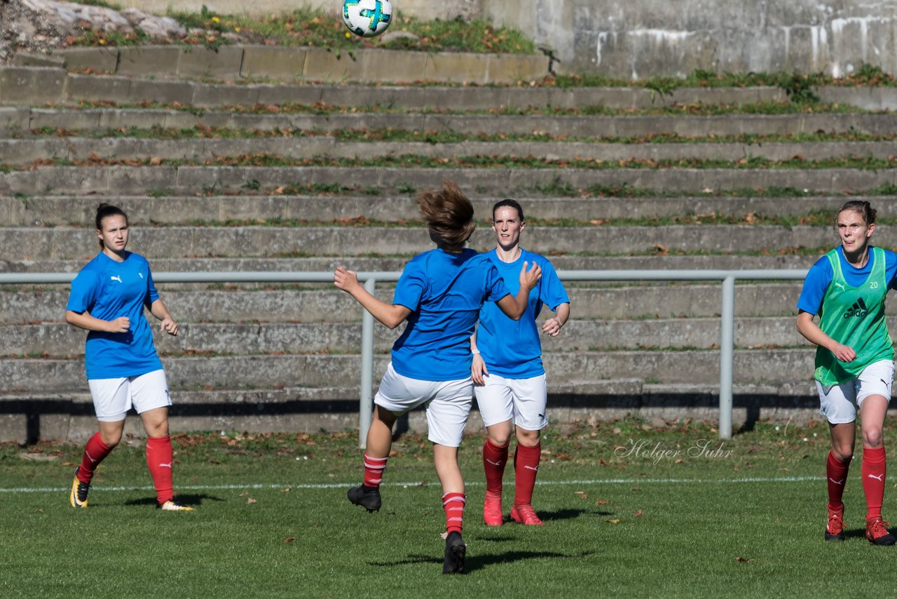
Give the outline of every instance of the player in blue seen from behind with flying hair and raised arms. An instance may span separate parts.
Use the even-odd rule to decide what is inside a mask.
[[[351,270],[336,269],[335,286],[352,295],[379,322],[395,329],[407,321],[392,348],[392,361],[374,399],[373,422],[364,452],[364,483],[349,489],[349,501],[369,512],[381,505],[379,486],[392,446],[396,418],[424,404],[433,460],[442,485],[446,515],[444,574],[464,571],[466,545],[461,537],[466,502],[457,465],[467,415],[473,403],[470,336],[483,302],[495,302],[512,319],[527,308],[529,290],[541,269],[527,263],[518,269],[517,294],[483,254],[466,249],[474,232],[474,207],[451,181],[440,191],[421,193],[416,202],[427,221],[436,249],[405,265],[393,303],[365,291]]]

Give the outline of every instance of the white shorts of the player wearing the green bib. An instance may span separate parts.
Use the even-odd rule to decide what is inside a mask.
[[[883,395],[891,401],[894,380],[893,360],[873,362],[857,378],[825,387],[816,381],[819,392],[819,413],[831,424],[846,424],[857,419],[857,409],[869,395]]]

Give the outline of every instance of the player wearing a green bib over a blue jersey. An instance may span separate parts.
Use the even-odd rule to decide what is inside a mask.
[[[894,536],[882,518],[884,416],[894,377],[884,296],[897,286],[897,254],[869,245],[875,232],[875,209],[866,201],[845,203],[835,224],[840,245],[816,260],[797,301],[797,330],[817,346],[814,379],[820,411],[832,435],[825,465],[829,496],[825,540],[844,540],[841,498],[853,459],[859,411],[866,538],[875,545],[893,545]],[[814,322],[817,314],[818,324]]]

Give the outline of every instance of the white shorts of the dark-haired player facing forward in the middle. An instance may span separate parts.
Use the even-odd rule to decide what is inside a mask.
[[[480,407],[483,424],[513,420],[514,426],[525,430],[541,430],[548,424],[545,418],[547,389],[545,375],[528,379],[508,379],[498,374],[483,376],[485,384],[474,387],[476,404]]]

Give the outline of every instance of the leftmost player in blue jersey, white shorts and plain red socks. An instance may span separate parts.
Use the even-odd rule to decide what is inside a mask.
[[[90,331],[84,345],[84,365],[100,431],[84,447],[81,465],[74,471],[69,502],[72,507],[87,507],[93,473],[121,440],[126,413],[133,406],[144,422],[146,465],[158,507],[193,511],[176,501],[172,491],[174,461],[168,426],[171,400],[144,308],[170,335],[178,334],[178,323],[152,284],[149,262],[125,249],[128,224],[121,208],[100,204],[96,225],[100,253],[74,277],[65,322]]]

